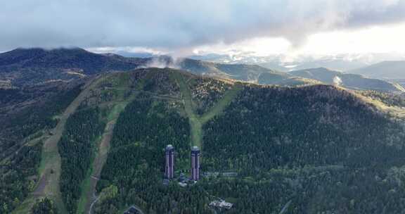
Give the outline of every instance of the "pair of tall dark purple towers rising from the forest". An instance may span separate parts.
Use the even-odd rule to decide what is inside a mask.
[[[170,144],[167,145],[165,153],[165,176],[170,180],[174,177],[174,147]],[[200,180],[200,149],[197,146],[191,148],[191,180]]]

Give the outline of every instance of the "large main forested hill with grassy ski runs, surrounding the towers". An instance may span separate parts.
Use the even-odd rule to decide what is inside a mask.
[[[234,204],[226,213],[403,209],[404,114],[390,112],[403,111],[401,96],[147,68],[100,75],[65,100],[63,113],[38,116],[60,115],[37,127],[38,143],[23,141],[21,153],[1,161],[0,202],[8,210],[0,213],[27,213],[44,197],[60,213],[122,213],[129,205],[144,213],[213,213],[208,204],[217,198]],[[211,173],[188,187],[165,186],[167,144],[176,148],[176,177],[189,174],[193,145],[202,149],[203,173],[236,177]]]

